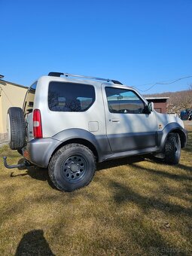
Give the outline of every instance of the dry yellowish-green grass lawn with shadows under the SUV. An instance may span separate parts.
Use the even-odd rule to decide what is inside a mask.
[[[178,166],[131,157],[98,165],[88,187],[53,188],[46,169],[5,169],[0,255],[191,255],[192,126]]]

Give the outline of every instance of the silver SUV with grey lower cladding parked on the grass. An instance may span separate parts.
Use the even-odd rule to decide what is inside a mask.
[[[133,87],[56,72],[29,87],[23,110],[9,108],[8,137],[26,163],[48,167],[66,191],[89,184],[105,160],[154,154],[177,164],[187,143],[181,119],[157,113]]]

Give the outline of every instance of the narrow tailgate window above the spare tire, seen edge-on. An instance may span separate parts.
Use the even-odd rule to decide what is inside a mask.
[[[35,84],[32,84],[32,86],[29,87],[29,89],[26,92],[26,98],[24,100],[24,105],[23,105],[24,114],[29,114],[32,112],[36,87],[37,87],[37,82]]]

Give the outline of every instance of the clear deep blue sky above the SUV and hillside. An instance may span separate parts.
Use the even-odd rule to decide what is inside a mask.
[[[29,86],[50,71],[69,72],[147,90],[192,75],[191,0],[0,0],[0,11],[6,81]],[[192,78],[146,93],[189,84]]]

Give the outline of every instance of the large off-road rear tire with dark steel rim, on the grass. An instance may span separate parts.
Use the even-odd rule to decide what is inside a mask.
[[[87,186],[96,171],[96,158],[89,148],[72,143],[59,148],[50,159],[48,172],[55,187],[73,191]]]

